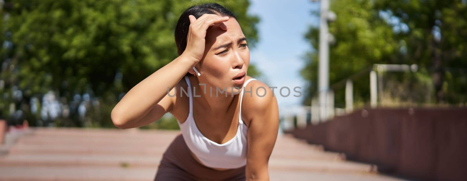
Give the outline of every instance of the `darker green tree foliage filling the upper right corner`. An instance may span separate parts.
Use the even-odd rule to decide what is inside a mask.
[[[465,0],[383,0],[401,41],[401,59],[429,68],[437,101],[466,102],[467,2]]]

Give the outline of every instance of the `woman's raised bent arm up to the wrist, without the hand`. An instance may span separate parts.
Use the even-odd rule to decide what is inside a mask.
[[[113,108],[111,113],[113,124],[121,129],[139,127],[171,111],[176,97],[170,97],[167,89],[169,87],[169,90],[172,90],[170,95],[173,95],[173,88],[194,65],[193,63],[189,58],[179,56],[136,84]],[[146,115],[148,117],[142,120]],[[152,117],[152,121],[148,120],[149,116]]]

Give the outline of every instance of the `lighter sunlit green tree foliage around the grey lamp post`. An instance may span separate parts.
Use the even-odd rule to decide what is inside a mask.
[[[378,16],[371,1],[333,0],[331,10],[337,19],[329,23],[329,32],[336,43],[329,49],[329,80],[336,83],[357,72],[368,68],[373,63],[392,63],[392,55],[397,51],[391,26]],[[318,15],[319,12],[314,12]],[[305,55],[306,64],[301,71],[309,81],[304,104],[311,103],[311,95],[318,83],[318,43],[319,27],[310,27],[305,38],[311,43],[313,51]],[[354,82],[354,87],[368,87],[365,81]],[[366,98],[369,89],[354,89],[356,98]],[[337,94],[341,95],[341,94]],[[337,98],[337,97],[336,97]]]

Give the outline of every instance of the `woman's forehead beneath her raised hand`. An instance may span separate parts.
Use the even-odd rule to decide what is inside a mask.
[[[219,25],[213,25],[209,27],[206,31],[206,43],[207,44],[224,44],[225,42],[233,41],[234,43],[237,39],[244,37],[243,32],[241,31],[240,24],[235,18],[230,18],[227,21],[223,22],[227,26],[227,30],[219,28]]]

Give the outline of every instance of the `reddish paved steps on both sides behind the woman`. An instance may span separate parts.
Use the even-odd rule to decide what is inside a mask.
[[[152,181],[177,131],[38,128],[0,154],[0,181]],[[12,135],[7,135],[13,138]],[[279,135],[269,161],[271,181],[396,181],[372,165],[345,160]]]

